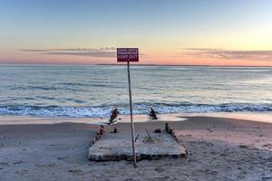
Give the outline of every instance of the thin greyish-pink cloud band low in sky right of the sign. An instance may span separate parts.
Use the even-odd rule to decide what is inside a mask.
[[[224,49],[187,48],[184,54],[199,58],[272,61],[272,51],[231,51]]]

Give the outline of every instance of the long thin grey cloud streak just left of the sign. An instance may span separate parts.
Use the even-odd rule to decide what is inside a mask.
[[[58,49],[22,49],[24,52],[40,52],[44,54],[56,55],[77,55],[90,57],[115,57],[116,48],[102,47],[102,48],[58,48]]]

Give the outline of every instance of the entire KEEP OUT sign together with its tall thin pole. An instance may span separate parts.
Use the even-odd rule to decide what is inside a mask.
[[[133,153],[133,165],[136,165],[135,140],[134,140],[134,123],[132,116],[132,99],[131,99],[131,70],[130,62],[139,62],[138,48],[117,48],[117,62],[127,62],[128,66],[128,80],[129,80],[129,95],[130,95],[130,110],[131,110],[131,141]]]

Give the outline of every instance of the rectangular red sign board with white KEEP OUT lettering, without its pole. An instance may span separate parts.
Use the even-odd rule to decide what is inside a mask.
[[[139,62],[138,48],[117,48],[117,62]]]

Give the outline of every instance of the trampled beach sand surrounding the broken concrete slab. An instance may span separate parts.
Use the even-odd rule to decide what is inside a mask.
[[[141,122],[135,128],[164,123]],[[271,123],[190,117],[170,126],[189,157],[142,160],[134,168],[129,161],[87,159],[97,125],[1,125],[0,180],[272,180]],[[130,124],[118,127],[130,129]]]

